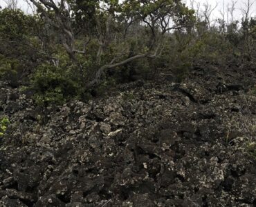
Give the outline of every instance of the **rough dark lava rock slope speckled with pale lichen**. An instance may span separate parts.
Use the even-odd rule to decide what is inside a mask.
[[[242,69],[44,110],[1,83],[0,206],[255,206],[256,75]]]

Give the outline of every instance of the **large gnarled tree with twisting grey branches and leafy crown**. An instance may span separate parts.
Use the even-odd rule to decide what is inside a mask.
[[[86,54],[88,39],[98,39],[96,63],[98,70],[89,85],[97,83],[102,72],[107,68],[116,68],[141,58],[155,58],[161,54],[167,32],[191,27],[194,11],[185,7],[180,0],[150,1],[64,1],[55,3],[53,0],[30,0],[48,23],[55,28],[60,36],[69,57],[81,67],[77,54]],[[79,2],[79,3],[78,3]],[[85,21],[85,23],[81,22]],[[91,27],[95,23],[96,28]],[[140,25],[150,32],[151,42],[142,49],[133,52],[130,57],[129,45],[126,41],[131,28]],[[76,28],[74,29],[74,26]],[[77,33],[75,33],[77,32]],[[77,49],[77,35],[84,35],[84,46]],[[112,59],[104,59],[105,51],[110,47],[118,48]],[[120,50],[122,48],[122,50]]]

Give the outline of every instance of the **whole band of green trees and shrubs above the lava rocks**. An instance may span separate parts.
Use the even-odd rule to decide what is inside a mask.
[[[220,27],[208,26],[181,0],[66,3],[70,10],[41,1],[36,15],[0,11],[0,79],[30,77],[25,85],[39,105],[101,96],[116,83],[148,79],[161,69],[181,82],[198,63],[221,67],[255,54],[255,19],[243,20],[241,28],[221,20]],[[98,85],[86,88],[91,82]]]

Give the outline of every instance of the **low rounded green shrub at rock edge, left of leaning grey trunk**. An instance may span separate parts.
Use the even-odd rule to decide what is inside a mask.
[[[61,104],[80,93],[80,85],[71,70],[48,63],[39,66],[32,77],[34,99],[38,105]]]

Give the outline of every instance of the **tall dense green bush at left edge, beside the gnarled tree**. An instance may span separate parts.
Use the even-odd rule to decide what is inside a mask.
[[[19,86],[24,81],[21,77],[28,77],[39,59],[37,20],[36,15],[21,10],[0,10],[0,79],[10,86]]]

